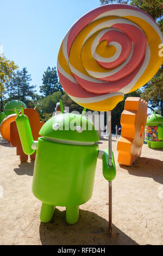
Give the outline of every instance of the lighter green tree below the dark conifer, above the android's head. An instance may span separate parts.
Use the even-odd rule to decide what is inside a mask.
[[[61,92],[55,92],[37,102],[37,111],[40,114],[41,120],[47,121],[49,117],[52,117],[56,104],[61,99],[61,95]]]

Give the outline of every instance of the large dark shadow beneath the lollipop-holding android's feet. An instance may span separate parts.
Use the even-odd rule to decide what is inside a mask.
[[[65,218],[65,211],[56,209],[51,222],[40,223],[42,245],[137,245],[114,225],[119,235],[106,236],[108,221],[94,212],[80,210],[75,225],[68,225]]]

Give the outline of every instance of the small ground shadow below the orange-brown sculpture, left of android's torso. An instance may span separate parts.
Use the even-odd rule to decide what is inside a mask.
[[[35,161],[31,161],[29,162],[24,162],[24,163],[20,163],[18,164],[18,168],[14,169],[14,172],[17,175],[29,175],[29,176],[33,176],[33,171],[34,171],[34,163]]]

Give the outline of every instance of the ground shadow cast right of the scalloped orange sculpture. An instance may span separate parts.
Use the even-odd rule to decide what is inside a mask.
[[[143,168],[145,166],[146,168]],[[161,160],[140,157],[133,166],[121,165],[121,168],[128,170],[131,175],[152,178],[156,182],[163,184],[163,161]]]

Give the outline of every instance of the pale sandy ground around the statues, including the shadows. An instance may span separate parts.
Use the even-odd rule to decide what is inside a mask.
[[[99,149],[107,147],[106,139],[99,142]],[[20,164],[16,148],[0,137],[0,245],[162,245],[163,150],[144,144],[132,167],[120,167],[116,147],[113,138],[117,176],[112,182],[112,221],[119,235],[108,238],[108,182],[101,160],[93,196],[80,206],[78,223],[68,225],[65,208],[57,207],[52,221],[43,224],[41,202],[31,191],[34,162]]]

